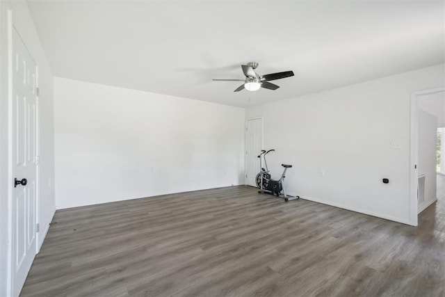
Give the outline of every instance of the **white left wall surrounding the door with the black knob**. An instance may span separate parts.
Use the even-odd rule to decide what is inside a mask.
[[[39,201],[38,246],[44,239],[49,222],[55,211],[54,200],[54,125],[53,125],[53,78],[47,58],[40,45],[31,15],[25,1],[0,1],[0,296],[8,296],[10,282],[8,261],[10,257],[10,210],[12,180],[8,172],[8,9],[13,10],[13,23],[22,35],[29,51],[39,67]]]

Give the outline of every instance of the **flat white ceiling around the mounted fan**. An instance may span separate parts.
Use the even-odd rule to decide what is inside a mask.
[[[57,77],[249,106],[444,63],[444,1],[28,1]],[[243,90],[241,64],[293,70]]]

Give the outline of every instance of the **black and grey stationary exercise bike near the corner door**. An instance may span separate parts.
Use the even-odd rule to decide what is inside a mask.
[[[261,154],[259,154],[259,168],[260,171],[257,174],[257,178],[255,179],[257,182],[257,187],[260,188],[258,193],[269,193],[271,195],[276,195],[277,197],[284,198],[284,200],[297,200],[300,196],[291,196],[286,194],[286,190],[284,189],[284,177],[286,177],[287,168],[292,168],[291,165],[281,164],[284,167],[283,173],[280,179],[275,180],[270,177],[269,169],[267,167],[266,162],[266,154],[269,152],[275,152],[275,150],[261,150]],[[263,167],[264,162],[264,167]]]

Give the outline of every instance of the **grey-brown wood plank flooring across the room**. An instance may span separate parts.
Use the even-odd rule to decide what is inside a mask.
[[[445,296],[419,227],[234,186],[56,212],[21,296]]]

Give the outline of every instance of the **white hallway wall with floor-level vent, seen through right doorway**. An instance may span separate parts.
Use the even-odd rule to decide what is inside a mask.
[[[419,100],[421,102],[421,99]],[[425,200],[419,203],[419,211],[423,211],[436,198],[436,143],[437,118],[419,109],[419,159],[417,169],[425,175]],[[420,202],[420,201],[419,201]]]

